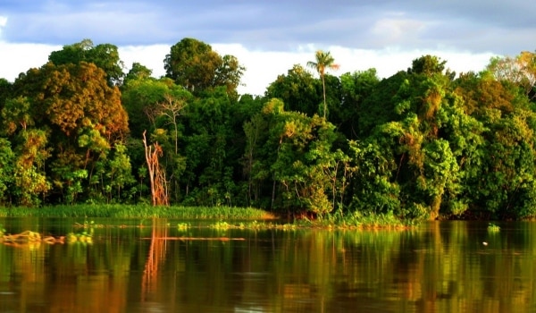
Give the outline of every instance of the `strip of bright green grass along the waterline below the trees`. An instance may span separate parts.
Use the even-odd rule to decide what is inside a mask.
[[[316,218],[289,218],[254,207],[152,207],[150,205],[75,205],[51,207],[0,207],[0,217],[59,217],[59,218],[171,218],[177,220],[214,220],[207,227],[215,229],[405,229],[415,221],[401,220],[389,214],[333,213]],[[88,224],[80,224],[87,228]],[[188,228],[188,223],[177,224]]]

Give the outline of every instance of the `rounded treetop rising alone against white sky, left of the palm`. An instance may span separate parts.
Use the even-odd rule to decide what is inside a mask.
[[[228,94],[234,95],[246,70],[236,57],[222,57],[194,38],[183,38],[173,45],[163,63],[166,76],[195,95],[218,86],[225,86]]]

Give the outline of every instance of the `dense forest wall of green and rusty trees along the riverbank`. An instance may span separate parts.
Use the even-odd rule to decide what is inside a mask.
[[[536,54],[478,73],[423,55],[385,79],[311,59],[253,97],[239,60],[194,38],[159,79],[111,44],[64,46],[0,79],[0,205],[536,216]]]

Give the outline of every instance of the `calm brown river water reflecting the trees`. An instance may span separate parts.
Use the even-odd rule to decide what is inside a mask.
[[[0,218],[0,312],[533,312],[536,224],[216,230],[173,220]],[[206,222],[205,222],[206,223]],[[210,224],[210,223],[208,223]]]

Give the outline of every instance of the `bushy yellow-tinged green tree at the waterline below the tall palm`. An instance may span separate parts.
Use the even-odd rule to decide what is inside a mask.
[[[342,207],[348,180],[348,157],[333,142],[335,127],[318,115],[286,112],[279,99],[245,123],[244,172],[250,198],[289,214],[323,216]],[[271,187],[267,188],[272,181]],[[264,187],[265,186],[265,187]]]

